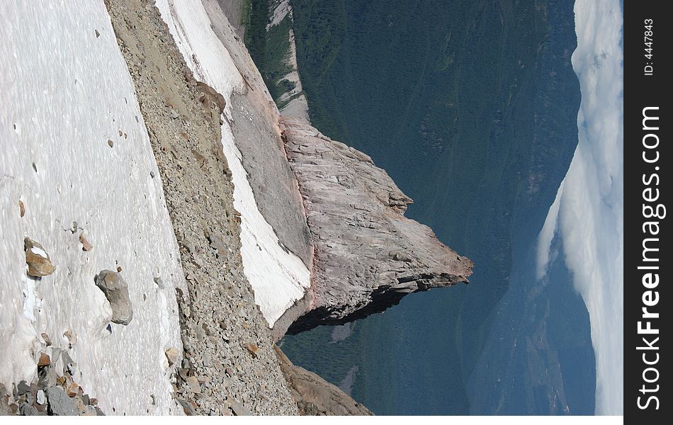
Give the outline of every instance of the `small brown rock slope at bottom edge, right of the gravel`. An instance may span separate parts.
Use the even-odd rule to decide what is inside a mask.
[[[290,392],[297,402],[300,414],[305,416],[372,415],[369,409],[356,402],[339,387],[305,368],[293,365],[277,346],[273,346],[273,349],[281,362],[281,370],[290,384]]]

